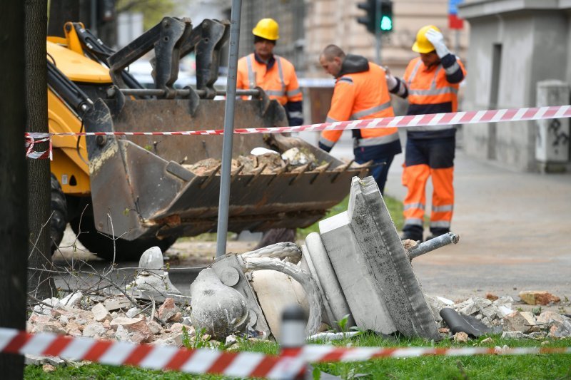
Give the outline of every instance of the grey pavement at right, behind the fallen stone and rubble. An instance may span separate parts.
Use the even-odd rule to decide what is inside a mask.
[[[352,155],[344,140],[333,155]],[[404,154],[395,157],[385,189],[401,201],[403,160]],[[570,174],[519,173],[457,150],[454,185],[452,230],[460,242],[413,261],[427,294],[455,299],[547,290],[571,298]],[[430,181],[427,188],[431,194]]]

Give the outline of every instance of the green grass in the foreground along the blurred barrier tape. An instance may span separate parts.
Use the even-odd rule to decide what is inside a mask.
[[[468,344],[456,344],[445,340],[434,346],[540,346],[540,341],[530,339],[501,339],[492,336],[493,342],[480,344],[484,338],[471,340]],[[571,339],[548,341],[547,347],[571,346]],[[313,342],[316,343],[316,342]],[[423,339],[384,339],[375,334],[363,334],[335,342],[344,346],[431,346]],[[241,351],[258,351],[277,354],[278,344],[273,342],[242,342]],[[571,355],[522,355],[522,356],[423,356],[408,359],[374,359],[353,363],[315,364],[318,374],[325,371],[343,379],[571,379]],[[364,376],[360,376],[364,375]],[[44,373],[41,366],[26,366],[25,379],[188,379],[190,375],[173,371],[148,371],[133,367],[113,367],[88,364],[78,368],[58,367]],[[192,376],[193,379],[223,379],[221,376]]]

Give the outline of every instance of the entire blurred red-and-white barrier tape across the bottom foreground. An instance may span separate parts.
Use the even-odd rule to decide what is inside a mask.
[[[146,369],[171,369],[190,374],[293,379],[303,370],[306,363],[320,361],[364,361],[380,357],[410,358],[433,355],[571,354],[571,347],[520,347],[497,350],[487,347],[383,348],[308,344],[302,349],[284,351],[281,356],[266,356],[258,352],[179,349],[174,346],[138,345],[56,334],[29,334],[0,327],[0,352],[60,356],[65,359],[96,361],[113,366],[131,365]]]

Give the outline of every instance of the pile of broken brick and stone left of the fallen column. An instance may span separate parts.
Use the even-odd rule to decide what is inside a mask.
[[[101,301],[97,303],[90,296],[75,297],[74,306],[66,305],[64,299],[56,297],[44,300],[44,304],[53,306],[43,304],[41,312],[32,311],[26,331],[178,347],[186,341],[189,347],[213,349],[219,346],[228,348],[240,339],[264,338],[263,334],[256,334],[256,337],[232,334],[225,342],[218,342],[208,334],[196,332],[191,324],[191,307],[177,304],[172,298],[156,304],[156,312],[151,318],[143,313],[153,306],[150,301],[137,300],[137,307],[133,307],[133,303],[123,296],[96,297]],[[31,355],[26,355],[26,364],[43,365],[49,370],[51,366],[78,365],[67,360]]]

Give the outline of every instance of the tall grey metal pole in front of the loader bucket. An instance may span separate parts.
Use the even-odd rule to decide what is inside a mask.
[[[234,103],[236,103],[236,73],[238,71],[238,42],[242,0],[232,0],[230,16],[230,48],[228,49],[228,82],[226,83],[226,108],[224,109],[224,135],[222,143],[222,173],[220,178],[220,200],[218,202],[218,230],[216,235],[216,257],[226,255],[228,234],[228,207],[230,205],[230,172],[232,165],[232,140],[234,133]]]

